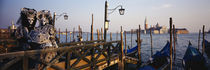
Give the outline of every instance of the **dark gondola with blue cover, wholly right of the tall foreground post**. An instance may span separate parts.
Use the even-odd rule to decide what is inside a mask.
[[[183,57],[182,64],[185,70],[207,70],[204,56],[198,49],[192,47],[190,42]]]

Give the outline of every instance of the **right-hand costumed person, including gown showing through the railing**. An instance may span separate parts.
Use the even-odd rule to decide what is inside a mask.
[[[29,33],[30,42],[33,49],[47,49],[47,48],[58,48],[55,40],[55,28],[52,25],[52,16],[50,11],[42,10],[37,13],[37,19],[39,26]],[[50,62],[57,52],[49,52],[40,54],[39,57],[46,62]],[[43,70],[44,65],[38,64],[38,70]]]

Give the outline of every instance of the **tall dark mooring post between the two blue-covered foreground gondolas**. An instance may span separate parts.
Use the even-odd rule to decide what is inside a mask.
[[[170,70],[172,70],[172,18],[170,17]]]

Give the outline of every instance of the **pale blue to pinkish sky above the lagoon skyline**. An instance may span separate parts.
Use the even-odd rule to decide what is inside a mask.
[[[108,32],[144,28],[144,20],[148,25],[169,27],[169,18],[173,18],[176,28],[187,28],[191,33],[198,32],[205,25],[210,30],[210,0],[107,0],[108,8],[118,5],[125,8],[125,14],[118,10],[108,15],[110,20]],[[105,0],[0,0],[0,28],[7,28],[13,20],[20,17],[20,9],[27,7],[37,11],[49,10],[52,14],[67,13],[69,18],[56,20],[56,28],[64,31],[78,30],[78,25],[85,32],[90,32],[91,15],[94,15],[94,32],[104,26]],[[118,8],[119,9],[119,8]],[[17,25],[18,26],[18,25]]]

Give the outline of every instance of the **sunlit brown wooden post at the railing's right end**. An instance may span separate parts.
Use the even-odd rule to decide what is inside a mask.
[[[123,54],[123,31],[121,26],[121,47],[120,47],[120,63],[118,64],[119,70],[124,70],[124,54]]]

